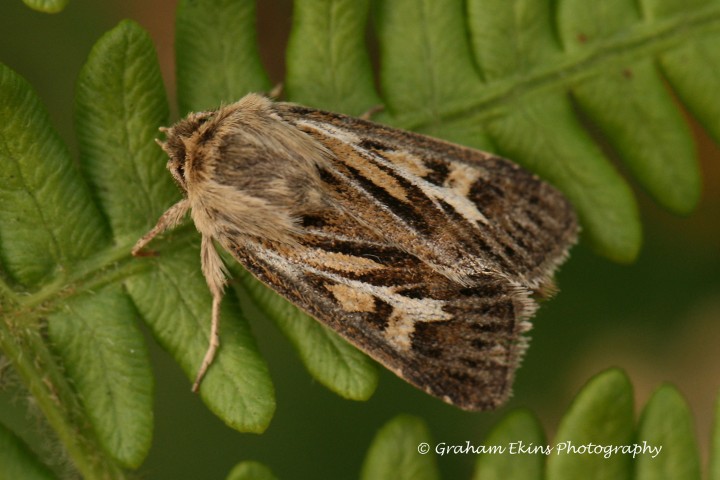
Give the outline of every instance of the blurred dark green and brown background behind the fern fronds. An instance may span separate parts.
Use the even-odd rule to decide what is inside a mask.
[[[74,149],[74,82],[97,38],[123,18],[153,37],[170,98],[173,87],[172,0],[71,0],[58,15],[31,11],[20,0],[0,7],[0,61],[37,89],[51,118]],[[274,82],[283,76],[291,2],[258,2],[261,54]],[[692,120],[690,120],[692,123]],[[689,218],[672,216],[638,198],[645,244],[637,262],[616,265],[576,247],[558,281],[562,292],[534,320],[532,342],[511,402],[497,413],[471,414],[446,406],[383,371],[366,403],[343,400],[315,383],[269,321],[252,327],[277,389],[278,409],[263,435],[235,432],[190,392],[170,357],[152,340],[156,427],[139,475],[149,479],[221,479],[241,460],[267,464],[279,477],[357,478],[377,431],[398,413],[423,417],[436,442],[473,444],[503,412],[537,413],[552,438],[573,395],[595,373],[625,369],[638,409],[662,382],[675,384],[695,415],[703,455],[720,387],[720,150],[694,123],[702,171],[702,202]],[[41,422],[27,413],[23,393],[0,394],[0,421],[35,448],[47,449]],[[475,458],[438,458],[443,478],[469,478]]]

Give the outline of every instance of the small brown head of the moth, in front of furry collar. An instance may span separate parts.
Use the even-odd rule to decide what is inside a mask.
[[[157,144],[168,154],[167,169],[184,192],[188,190],[187,174],[192,169],[190,164],[192,155],[189,152],[193,149],[197,132],[214,115],[214,111],[191,113],[170,128],[160,128],[160,132],[165,135],[165,140],[155,139]]]

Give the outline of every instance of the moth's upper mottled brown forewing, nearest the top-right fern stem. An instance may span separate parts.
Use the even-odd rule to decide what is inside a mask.
[[[492,271],[552,292],[577,224],[549,184],[488,153],[298,105],[276,108],[335,154],[329,191],[386,241],[459,283]]]

